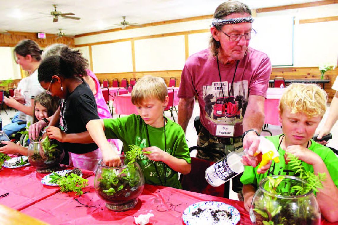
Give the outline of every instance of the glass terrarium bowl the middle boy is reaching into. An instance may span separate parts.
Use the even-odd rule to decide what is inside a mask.
[[[105,201],[105,206],[117,212],[134,208],[144,188],[144,176],[139,164],[127,164],[125,155],[119,156],[119,167],[107,167],[100,160],[94,180],[95,191]]]

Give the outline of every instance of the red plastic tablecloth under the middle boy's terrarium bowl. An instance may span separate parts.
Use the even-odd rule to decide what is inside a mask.
[[[182,213],[189,205],[199,201],[221,201],[239,210],[241,220],[238,224],[251,224],[243,202],[152,185],[145,185],[135,208],[126,212],[113,212],[105,207],[104,201],[95,193],[94,177],[88,179],[91,187],[84,189],[82,196],[57,193],[22,212],[50,224],[129,225],[135,224],[134,216],[152,213],[154,217],[150,218],[149,224],[182,225]]]

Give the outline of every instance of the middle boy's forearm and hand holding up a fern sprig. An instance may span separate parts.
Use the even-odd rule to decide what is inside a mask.
[[[184,159],[177,159],[156,146],[147,147],[143,151],[151,151],[151,153],[145,154],[149,160],[164,162],[171,169],[182,174],[190,173],[191,165]]]

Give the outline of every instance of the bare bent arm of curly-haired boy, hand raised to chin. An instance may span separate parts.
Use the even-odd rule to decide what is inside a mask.
[[[312,165],[315,174],[326,174],[326,179],[322,182],[324,188],[318,189],[316,198],[319,204],[320,212],[325,217],[325,219],[327,219],[329,222],[338,221],[338,214],[335,212],[335,210],[332,210],[333,208],[338,208],[338,201],[332,201],[332,199],[338,199],[338,189],[334,184],[323,160],[315,152],[300,145],[288,146],[285,151],[294,154],[299,160],[303,160],[307,164]],[[288,163],[289,160],[286,159],[285,162]]]

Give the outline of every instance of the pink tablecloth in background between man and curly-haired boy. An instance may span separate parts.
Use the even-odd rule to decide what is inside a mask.
[[[278,106],[279,100],[284,93],[285,88],[268,88],[266,94],[267,97],[264,102],[264,123],[271,125],[281,125],[278,119]]]

